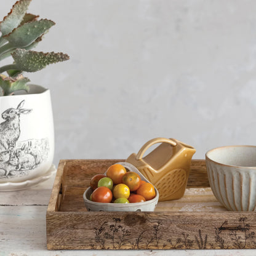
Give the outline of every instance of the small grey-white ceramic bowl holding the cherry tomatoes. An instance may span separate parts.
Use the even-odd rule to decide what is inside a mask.
[[[126,167],[130,172],[136,172],[140,175],[142,180],[145,182],[149,182],[140,172],[139,170],[129,162],[117,162],[117,164],[121,164]],[[106,173],[105,173],[106,174]],[[86,205],[86,209],[89,212],[153,212],[154,208],[158,204],[159,193],[156,187],[154,186],[154,190],[156,191],[156,196],[145,202],[134,202],[131,204],[114,204],[111,202],[92,202],[90,201],[90,194],[92,194],[92,188],[87,188],[84,191],[84,204]]]

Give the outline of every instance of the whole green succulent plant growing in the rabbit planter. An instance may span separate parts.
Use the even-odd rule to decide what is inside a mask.
[[[15,2],[9,14],[0,22],[0,60],[12,56],[14,63],[0,66],[0,96],[12,95],[16,90],[29,90],[22,73],[42,70],[50,63],[63,62],[70,57],[62,52],[36,52],[33,49],[42,36],[55,25],[52,20],[28,14],[31,0]],[[2,74],[6,72],[5,74]]]

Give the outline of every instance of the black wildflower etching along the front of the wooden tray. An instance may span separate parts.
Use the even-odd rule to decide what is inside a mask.
[[[157,222],[150,227],[140,227],[138,235],[132,236],[133,229],[122,224],[120,218],[113,218],[113,222],[103,222],[99,228],[95,228],[95,244],[92,249],[248,249],[255,248],[255,232],[247,223],[247,217],[238,219],[239,224],[228,226],[225,220],[222,225],[213,227],[209,233],[203,228],[191,233],[182,232],[173,234],[166,239],[163,234],[170,233],[170,230]],[[193,239],[192,239],[193,238]],[[214,241],[214,242],[212,242]],[[108,245],[108,246],[106,246]]]

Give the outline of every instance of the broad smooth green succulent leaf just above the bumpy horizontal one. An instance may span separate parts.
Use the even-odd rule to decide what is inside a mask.
[[[4,36],[11,47],[23,48],[29,46],[42,34],[46,33],[51,26],[55,25],[52,20],[33,20],[15,28],[10,34]]]

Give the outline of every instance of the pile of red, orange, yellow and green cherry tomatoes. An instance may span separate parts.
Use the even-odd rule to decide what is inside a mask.
[[[113,164],[104,174],[90,180],[93,202],[131,203],[145,202],[156,196],[154,186],[145,182],[136,172],[127,171],[121,164]]]

